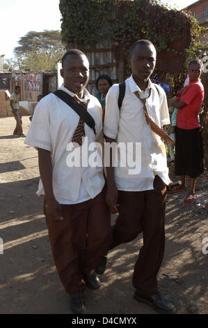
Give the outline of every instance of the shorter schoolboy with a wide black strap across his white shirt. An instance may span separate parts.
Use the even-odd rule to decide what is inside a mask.
[[[74,105],[70,107],[56,93],[49,94],[35,108],[25,142],[38,149],[41,180],[37,193],[45,195],[44,211],[59,278],[70,295],[72,311],[83,313],[85,286],[100,287],[94,269],[111,244],[111,218],[102,167],[81,161],[72,165],[70,149],[74,147],[77,154],[86,137],[88,144],[97,140],[102,112],[97,98],[85,89],[89,79],[86,55],[70,50],[62,66],[64,84],[58,92],[79,104],[79,112],[90,114],[95,126],[88,126]]]

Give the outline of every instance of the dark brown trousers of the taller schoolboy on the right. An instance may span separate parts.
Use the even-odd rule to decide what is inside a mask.
[[[165,248],[166,184],[156,176],[154,190],[119,191],[119,216],[113,225],[113,244],[132,241],[143,231],[143,247],[134,267],[132,283],[145,295],[157,289],[157,273],[161,267]]]

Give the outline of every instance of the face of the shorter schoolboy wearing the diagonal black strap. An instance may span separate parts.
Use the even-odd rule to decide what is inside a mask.
[[[69,54],[61,69],[61,76],[67,89],[79,95],[89,80],[89,62],[84,55]]]

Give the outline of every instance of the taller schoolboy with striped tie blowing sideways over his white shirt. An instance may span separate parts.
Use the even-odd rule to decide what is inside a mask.
[[[158,130],[163,133],[161,127],[170,124],[170,119],[165,92],[149,78],[155,63],[154,45],[148,40],[138,40],[130,50],[132,75],[125,81],[125,97],[120,109],[118,84],[114,84],[106,96],[106,142],[141,144],[139,173],[129,174],[131,167],[128,163],[120,165],[120,149],[118,166],[112,166],[112,158],[111,166],[107,167],[106,201],[111,207],[117,203],[120,205],[119,216],[113,226],[111,248],[131,241],[143,232],[143,247],[138,254],[132,281],[136,288],[134,299],[149,304],[160,313],[172,313],[173,304],[161,296],[157,286],[157,273],[165,247],[166,185],[170,184],[170,179],[165,145],[161,137],[152,131],[150,122],[157,124]],[[128,155],[131,156],[131,153],[127,151]]]

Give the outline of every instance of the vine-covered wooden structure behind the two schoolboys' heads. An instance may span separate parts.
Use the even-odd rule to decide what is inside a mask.
[[[88,90],[92,94],[97,92],[95,81],[99,74],[109,75],[113,83],[129,76],[129,47],[138,39],[147,38],[157,47],[156,68],[163,73],[162,80],[167,74],[173,77],[182,72],[193,38],[188,14],[160,6],[154,0],[88,0],[86,7],[81,6],[82,2],[60,1],[61,33],[67,50],[78,48],[86,53],[90,62]],[[81,17],[94,13],[86,19],[84,31],[76,10]],[[95,26],[98,32],[94,31]]]

